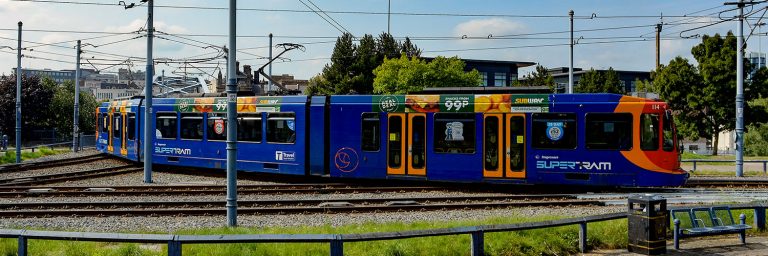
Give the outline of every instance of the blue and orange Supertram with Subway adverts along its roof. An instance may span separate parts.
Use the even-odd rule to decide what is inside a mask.
[[[97,149],[142,161],[143,99],[98,108]],[[238,170],[363,179],[679,186],[671,111],[616,94],[239,97]],[[153,102],[154,163],[226,166],[226,99]]]

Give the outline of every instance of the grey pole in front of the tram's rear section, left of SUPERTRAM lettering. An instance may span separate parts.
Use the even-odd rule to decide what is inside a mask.
[[[155,31],[154,14],[152,13],[155,2],[149,0],[147,3],[147,70],[144,80],[144,183],[152,183],[152,152],[155,129],[152,120],[152,76],[154,71],[154,59],[152,59],[152,38]]]

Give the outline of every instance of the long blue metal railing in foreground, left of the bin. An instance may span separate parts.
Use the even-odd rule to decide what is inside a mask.
[[[18,239],[19,256],[28,255],[30,239],[167,244],[170,256],[181,256],[184,244],[326,243],[330,245],[330,255],[340,256],[344,255],[344,243],[468,234],[472,237],[472,255],[485,255],[485,233],[579,225],[579,249],[586,252],[587,223],[623,219],[626,216],[627,213],[619,212],[540,222],[362,234],[157,235],[0,229],[0,238]]]

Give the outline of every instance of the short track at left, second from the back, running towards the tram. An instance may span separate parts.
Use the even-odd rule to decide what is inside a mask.
[[[58,183],[58,182],[66,182],[66,181],[76,181],[76,180],[92,179],[92,178],[106,177],[111,175],[131,173],[131,172],[140,171],[140,170],[142,170],[142,168],[135,167],[135,165],[133,164],[128,164],[128,165],[77,171],[77,172],[0,179],[0,187],[42,185],[42,184],[50,184],[50,183]]]

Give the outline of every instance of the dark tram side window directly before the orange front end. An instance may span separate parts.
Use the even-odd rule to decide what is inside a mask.
[[[588,149],[632,149],[632,114],[588,113],[585,120]]]

